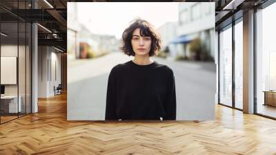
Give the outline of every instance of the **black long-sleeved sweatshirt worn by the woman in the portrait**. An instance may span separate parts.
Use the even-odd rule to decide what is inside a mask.
[[[130,60],[110,71],[106,120],[175,120],[175,76],[168,66]]]

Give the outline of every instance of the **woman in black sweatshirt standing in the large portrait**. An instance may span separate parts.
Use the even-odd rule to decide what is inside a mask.
[[[150,59],[161,50],[161,38],[143,19],[124,30],[121,51],[134,59],[110,71],[106,120],[175,120],[175,76]]]

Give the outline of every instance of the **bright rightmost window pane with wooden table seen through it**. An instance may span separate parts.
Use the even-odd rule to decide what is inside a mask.
[[[257,12],[257,113],[276,118],[276,3]]]

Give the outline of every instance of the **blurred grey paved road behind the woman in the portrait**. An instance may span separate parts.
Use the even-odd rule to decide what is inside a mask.
[[[110,70],[129,60],[132,57],[112,53],[96,60],[68,61],[68,120],[104,120]],[[177,120],[215,119],[215,63],[152,60],[175,73]]]

